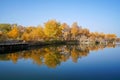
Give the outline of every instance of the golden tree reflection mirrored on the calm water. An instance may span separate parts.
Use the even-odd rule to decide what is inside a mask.
[[[2,54],[0,61],[12,61],[14,64],[19,59],[32,60],[33,64],[46,65],[49,68],[55,68],[62,62],[72,59],[77,62],[79,58],[88,56],[90,51],[103,50],[104,48],[114,48],[115,44],[108,45],[64,45],[44,47],[40,49]]]

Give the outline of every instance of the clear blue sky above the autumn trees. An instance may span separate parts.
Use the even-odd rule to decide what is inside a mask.
[[[37,26],[50,19],[120,37],[120,0],[0,0],[0,23]]]

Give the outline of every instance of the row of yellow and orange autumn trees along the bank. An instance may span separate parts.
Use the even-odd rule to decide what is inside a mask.
[[[90,32],[89,29],[79,26],[74,22],[71,26],[56,20],[49,20],[43,26],[21,26],[17,24],[0,24],[0,41],[24,40],[24,41],[46,41],[46,40],[116,40],[116,34],[105,34]]]

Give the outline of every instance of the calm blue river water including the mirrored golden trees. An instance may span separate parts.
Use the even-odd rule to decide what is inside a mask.
[[[0,80],[120,80],[120,46],[62,45],[0,54]]]

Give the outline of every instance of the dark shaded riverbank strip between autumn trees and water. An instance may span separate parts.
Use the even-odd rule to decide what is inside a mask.
[[[14,51],[21,51],[33,48],[40,48],[44,46],[54,46],[54,45],[91,45],[91,44],[83,44],[80,43],[78,40],[69,40],[69,41],[61,41],[61,40],[53,40],[53,41],[14,41],[14,42],[1,42],[0,43],[0,53],[9,53]],[[98,45],[97,43],[92,43],[92,45]],[[106,45],[106,44],[101,44]]]

